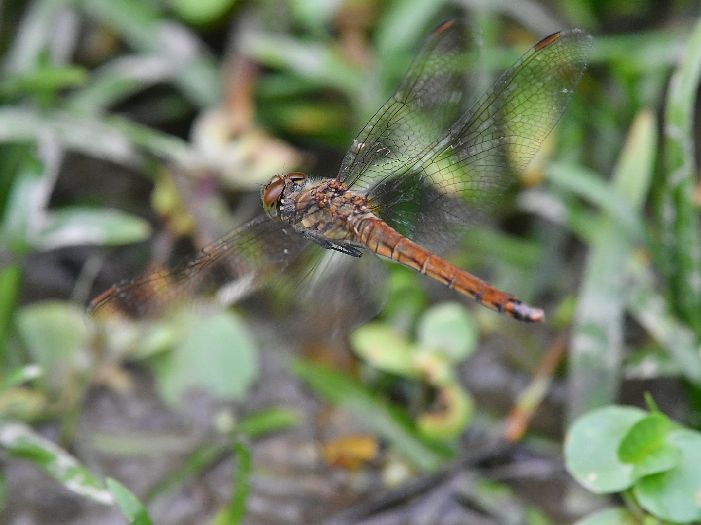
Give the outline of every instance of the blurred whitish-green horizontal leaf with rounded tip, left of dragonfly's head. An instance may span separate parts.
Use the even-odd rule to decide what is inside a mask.
[[[123,211],[66,206],[48,213],[36,248],[52,250],[81,244],[118,246],[143,241],[149,235],[151,226],[147,221]]]

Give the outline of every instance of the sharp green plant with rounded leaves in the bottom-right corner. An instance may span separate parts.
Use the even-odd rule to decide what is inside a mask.
[[[611,405],[581,416],[565,441],[567,470],[597,494],[621,493],[627,508],[578,525],[669,523],[701,519],[701,433],[651,412]]]

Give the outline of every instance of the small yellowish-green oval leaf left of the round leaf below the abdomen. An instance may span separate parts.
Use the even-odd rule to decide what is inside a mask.
[[[362,359],[385,372],[416,377],[418,370],[411,357],[414,346],[385,323],[367,323],[350,337],[353,351]]]

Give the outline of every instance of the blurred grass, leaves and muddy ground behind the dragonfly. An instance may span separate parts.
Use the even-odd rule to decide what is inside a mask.
[[[600,506],[563,475],[566,426],[651,391],[701,427],[700,7],[0,3],[3,522],[123,522],[114,501],[130,522],[174,524],[246,508],[250,523],[360,523],[386,510],[367,503],[379,494],[387,523]],[[294,306],[294,287],[213,316],[86,323],[111,283],[257,213],[271,175],[334,176],[455,15],[481,31],[485,87],[557,29],[595,38],[543,151],[447,254],[544,307],[545,325],[396,265],[386,307],[348,337]]]

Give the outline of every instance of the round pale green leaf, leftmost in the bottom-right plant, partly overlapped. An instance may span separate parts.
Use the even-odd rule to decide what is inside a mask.
[[[634,482],[634,467],[620,461],[618,447],[630,428],[645,416],[639,408],[614,405],[580,417],[565,440],[568,472],[597,494],[627,489]]]

